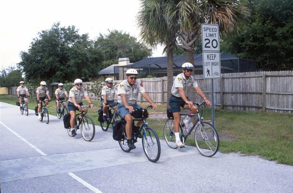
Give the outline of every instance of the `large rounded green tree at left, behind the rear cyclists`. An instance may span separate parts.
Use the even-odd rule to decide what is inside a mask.
[[[51,29],[41,31],[30,44],[28,52],[21,52],[25,77],[30,82],[72,82],[76,78],[87,80],[98,75],[103,53],[94,48],[88,34],[79,35],[74,26],[60,27],[54,23]]]

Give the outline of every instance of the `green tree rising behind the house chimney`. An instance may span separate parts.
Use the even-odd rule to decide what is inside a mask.
[[[95,41],[95,48],[103,50],[105,56],[103,65],[99,67],[99,70],[118,64],[119,58],[128,57],[130,62],[137,62],[151,56],[151,49],[139,43],[129,33],[118,30],[108,30],[108,32],[108,34],[104,35],[100,33],[100,36]]]

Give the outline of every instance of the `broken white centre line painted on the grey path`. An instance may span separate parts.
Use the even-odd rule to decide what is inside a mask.
[[[33,144],[31,144],[30,142],[28,142],[27,140],[25,140],[23,137],[21,137],[20,135],[18,135],[15,131],[13,131],[11,128],[7,127],[4,123],[2,123],[0,121],[0,123],[7,128],[9,131],[11,131],[14,135],[16,135],[18,138],[20,138],[21,140],[23,140],[26,144],[28,144],[30,147],[34,148],[34,150],[36,150],[37,152],[39,152],[41,155],[47,155],[44,152],[42,152],[40,149],[38,149],[37,147],[35,147]],[[76,176],[74,173],[69,172],[67,173],[68,175],[70,175],[71,177],[73,177],[75,180],[77,180],[78,182],[80,182],[82,185],[84,185],[85,187],[87,187],[88,189],[90,189],[93,192],[96,193],[101,193],[101,191],[95,187],[93,187],[91,184],[87,183],[86,181],[82,180],[80,177]]]

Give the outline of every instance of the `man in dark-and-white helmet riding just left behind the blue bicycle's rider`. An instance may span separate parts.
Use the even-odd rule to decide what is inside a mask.
[[[103,120],[107,121],[106,111],[107,107],[116,106],[117,103],[114,102],[115,94],[117,96],[117,88],[113,86],[113,79],[106,78],[106,85],[102,88],[102,105],[103,105]],[[108,105],[105,105],[108,103]]]

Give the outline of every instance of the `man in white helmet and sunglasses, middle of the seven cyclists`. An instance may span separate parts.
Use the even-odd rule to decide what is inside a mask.
[[[82,80],[81,79],[76,79],[74,80],[75,86],[70,89],[69,91],[69,102],[67,104],[68,111],[70,113],[71,119],[70,119],[70,127],[73,128],[71,131],[72,136],[76,136],[76,131],[74,129],[74,123],[75,123],[75,118],[76,118],[76,110],[82,112],[82,98],[85,97],[86,101],[90,104],[91,108],[94,107],[93,103],[91,102],[90,97],[88,96],[88,92],[84,87],[82,87]],[[84,113],[87,114],[88,109],[84,109]],[[81,116],[79,116],[80,120]]]

